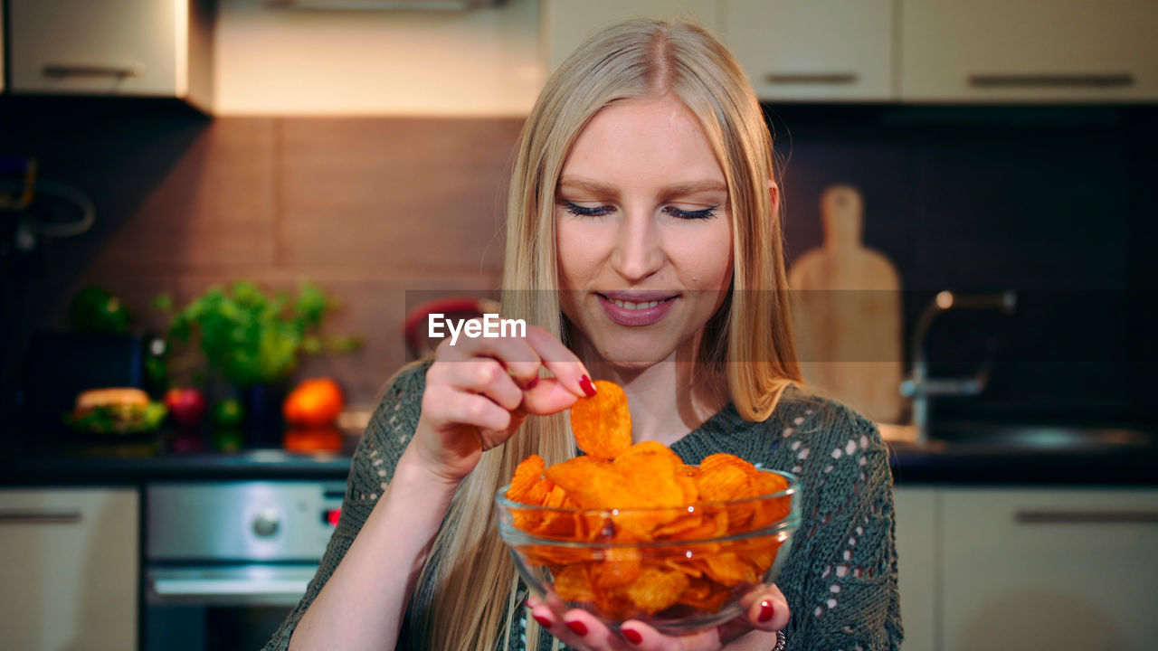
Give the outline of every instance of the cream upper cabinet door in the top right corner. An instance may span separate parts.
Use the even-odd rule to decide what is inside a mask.
[[[901,100],[1158,98],[1153,0],[899,0]]]

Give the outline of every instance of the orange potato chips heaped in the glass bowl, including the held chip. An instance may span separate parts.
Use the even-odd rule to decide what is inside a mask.
[[[787,482],[731,454],[688,466],[662,444],[631,445],[623,389],[595,386],[571,408],[586,455],[549,468],[532,455],[515,469],[506,497],[528,505],[511,510],[515,528],[560,542],[519,551],[550,569],[560,599],[610,619],[719,610],[775,561],[782,536],[756,532],[784,519],[791,497],[761,496]]]

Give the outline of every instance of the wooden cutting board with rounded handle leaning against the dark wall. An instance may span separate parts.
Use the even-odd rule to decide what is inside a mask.
[[[900,423],[901,279],[862,242],[864,202],[851,185],[820,198],[824,239],[789,271],[793,337],[811,388],[878,423]]]

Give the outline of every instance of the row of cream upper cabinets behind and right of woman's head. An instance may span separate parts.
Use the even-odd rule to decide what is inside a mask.
[[[549,67],[628,16],[698,20],[765,101],[1158,101],[1153,0],[543,0]]]

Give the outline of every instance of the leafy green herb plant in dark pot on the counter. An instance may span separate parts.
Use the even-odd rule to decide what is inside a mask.
[[[210,368],[237,387],[248,429],[259,445],[280,441],[281,401],[301,354],[360,345],[356,337],[321,332],[337,301],[309,283],[294,298],[285,292],[270,297],[252,283],[235,281],[229,288],[210,287],[179,310],[168,295],[154,305],[171,314],[170,338],[197,339]]]

